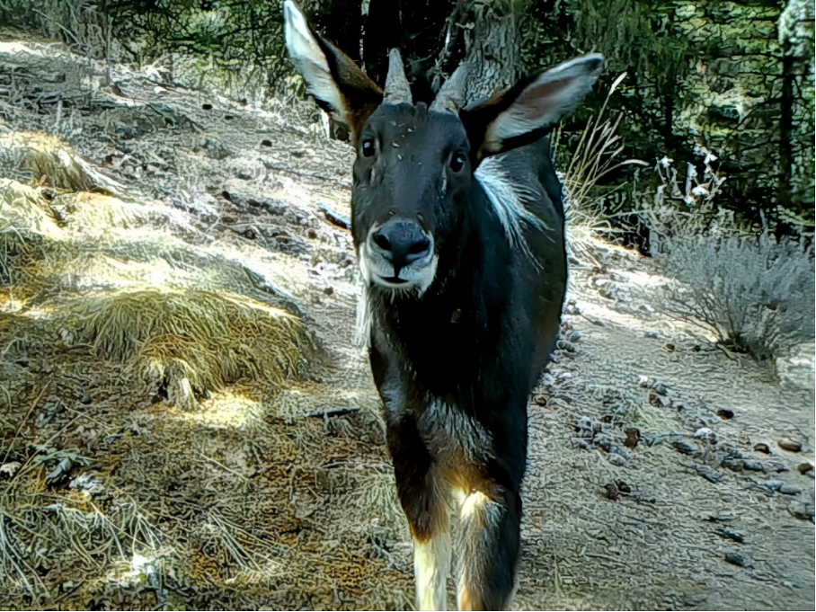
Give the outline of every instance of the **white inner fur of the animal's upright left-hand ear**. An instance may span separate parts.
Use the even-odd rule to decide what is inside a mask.
[[[328,104],[334,119],[347,123],[340,89],[334,83],[323,49],[309,29],[306,17],[292,0],[283,4],[283,21],[289,58],[303,75],[306,91]]]

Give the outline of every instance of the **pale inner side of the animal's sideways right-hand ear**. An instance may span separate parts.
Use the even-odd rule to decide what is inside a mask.
[[[573,111],[590,93],[603,63],[600,54],[592,53],[538,75],[492,120],[484,135],[483,151],[498,152],[504,140],[545,128]]]

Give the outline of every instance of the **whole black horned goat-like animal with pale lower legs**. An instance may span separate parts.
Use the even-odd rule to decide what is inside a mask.
[[[459,67],[428,106],[414,103],[396,49],[381,91],[290,0],[284,13],[308,92],[357,149],[351,233],[417,608],[447,608],[451,492],[458,607],[507,608],[528,397],[567,284],[562,188],[543,130],[581,102],[603,58],[572,59],[467,106]]]

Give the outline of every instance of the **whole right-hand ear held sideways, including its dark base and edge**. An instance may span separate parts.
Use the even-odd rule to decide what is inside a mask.
[[[477,160],[528,144],[590,93],[604,59],[574,58],[459,111]]]

